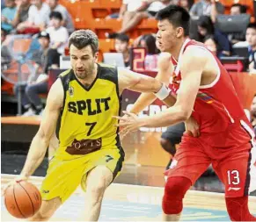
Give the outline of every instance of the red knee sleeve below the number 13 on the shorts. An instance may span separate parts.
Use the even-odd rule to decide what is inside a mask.
[[[226,197],[225,200],[232,221],[256,221],[248,209],[248,197]]]

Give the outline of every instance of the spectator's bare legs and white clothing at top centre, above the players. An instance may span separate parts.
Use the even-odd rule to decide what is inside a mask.
[[[160,2],[160,4],[157,2]],[[106,32],[106,38],[114,39],[118,34],[130,31],[135,28],[143,18],[154,16],[157,11],[165,8],[168,4],[170,4],[170,0],[124,0],[120,12],[120,18],[123,19],[121,30],[113,33]]]

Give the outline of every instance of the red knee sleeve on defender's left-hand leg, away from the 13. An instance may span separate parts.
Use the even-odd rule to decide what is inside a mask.
[[[179,214],[182,211],[182,200],[190,186],[191,182],[186,177],[177,176],[168,179],[162,202],[165,214]]]

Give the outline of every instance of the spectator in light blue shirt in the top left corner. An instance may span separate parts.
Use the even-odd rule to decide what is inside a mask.
[[[13,29],[12,21],[16,12],[15,0],[6,0],[5,8],[1,11],[1,29],[4,29],[6,32],[11,32]]]

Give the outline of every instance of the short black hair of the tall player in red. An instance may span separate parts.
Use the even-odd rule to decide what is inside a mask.
[[[179,5],[169,5],[157,12],[157,20],[168,19],[174,27],[182,27],[184,29],[184,36],[189,35],[189,20],[190,16],[186,9]]]

